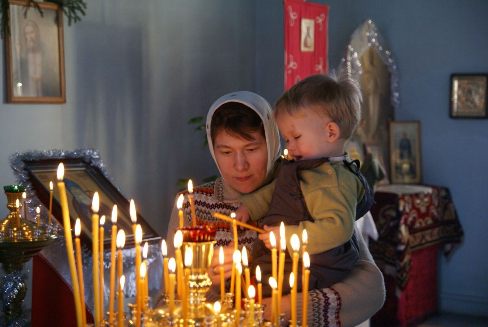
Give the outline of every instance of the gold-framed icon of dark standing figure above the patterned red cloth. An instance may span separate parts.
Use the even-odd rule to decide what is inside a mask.
[[[393,184],[422,182],[420,121],[390,122],[390,175]]]

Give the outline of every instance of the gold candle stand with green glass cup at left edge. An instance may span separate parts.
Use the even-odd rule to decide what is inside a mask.
[[[7,185],[4,190],[10,213],[7,218],[0,220],[0,263],[5,273],[11,275],[18,272],[25,262],[58,238],[58,233],[52,231],[50,226],[38,228],[35,222],[20,217],[19,208],[22,192],[25,190],[23,186]],[[20,202],[19,208],[16,206],[16,200]],[[22,280],[19,280],[14,288],[14,295],[3,304],[7,323],[20,317],[22,301],[27,291]]]

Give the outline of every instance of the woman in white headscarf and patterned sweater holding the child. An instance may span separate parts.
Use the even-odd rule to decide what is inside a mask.
[[[224,246],[224,272],[232,269],[232,231],[229,224],[215,219],[212,212],[229,215],[239,207],[237,198],[269,183],[280,167],[280,139],[270,105],[257,94],[234,92],[224,95],[210,108],[206,124],[210,153],[222,177],[194,188],[198,224],[217,226],[217,245]],[[185,224],[189,224],[189,204],[184,203]],[[168,226],[168,255],[174,256],[172,240],[178,228],[178,211],[173,208]],[[309,291],[308,321],[313,326],[356,326],[378,311],[385,300],[383,276],[374,264],[361,234],[355,232],[360,245],[360,258],[352,273],[341,283],[325,289]],[[256,232],[239,233],[239,248],[250,248]],[[219,299],[219,261],[215,251],[209,277],[213,288],[207,301]],[[163,283],[162,283],[163,284]],[[156,297],[155,306],[161,297]],[[297,314],[301,319],[302,294],[298,294]],[[270,304],[270,299],[263,299]],[[285,321],[290,318],[290,298],[282,299]],[[266,318],[266,316],[265,316]],[[269,317],[268,317],[269,318]]]

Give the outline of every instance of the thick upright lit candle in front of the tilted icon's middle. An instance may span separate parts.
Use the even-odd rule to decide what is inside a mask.
[[[100,276],[98,271],[98,265],[100,263],[98,259],[99,249],[98,249],[98,209],[100,208],[100,199],[98,192],[93,195],[92,201],[92,255],[93,255],[93,306],[95,311],[94,326],[100,326]]]

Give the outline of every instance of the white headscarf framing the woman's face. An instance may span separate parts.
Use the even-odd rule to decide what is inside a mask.
[[[206,124],[208,147],[210,148],[210,153],[212,153],[212,157],[215,160],[215,164],[217,165],[217,168],[219,168],[219,172],[222,175],[219,164],[215,159],[215,153],[213,151],[212,137],[210,136],[210,129],[211,129],[210,124],[212,122],[212,116],[215,110],[217,110],[220,106],[222,106],[224,103],[227,102],[239,102],[246,105],[250,109],[256,111],[256,113],[263,121],[264,136],[266,138],[266,147],[268,150],[268,164],[267,164],[267,171],[266,171],[266,177],[267,177],[269,172],[273,168],[275,161],[281,155],[280,134],[278,133],[278,125],[274,120],[273,110],[271,109],[269,103],[262,96],[259,96],[256,93],[248,92],[248,91],[232,92],[229,94],[225,94],[217,101],[215,101],[212,107],[210,107],[210,110],[208,110],[207,124]]]

